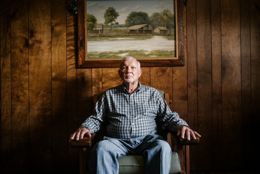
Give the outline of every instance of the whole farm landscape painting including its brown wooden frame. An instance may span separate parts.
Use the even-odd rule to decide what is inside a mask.
[[[78,0],[77,68],[184,66],[181,0]]]

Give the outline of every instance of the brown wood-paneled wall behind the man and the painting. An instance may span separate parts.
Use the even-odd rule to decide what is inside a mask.
[[[78,171],[71,133],[92,96],[119,85],[118,68],[76,69],[77,18],[67,0],[1,1],[1,172]],[[193,171],[256,169],[260,100],[259,0],[189,0],[185,66],[143,67],[202,137]],[[244,167],[247,165],[247,167]]]

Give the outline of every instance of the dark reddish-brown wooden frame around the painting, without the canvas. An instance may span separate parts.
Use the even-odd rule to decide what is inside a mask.
[[[174,1],[174,0],[173,0]],[[184,2],[175,0],[176,57],[165,59],[139,59],[142,67],[184,66]],[[77,68],[118,67],[120,60],[86,60],[86,0],[78,0],[78,60]]]

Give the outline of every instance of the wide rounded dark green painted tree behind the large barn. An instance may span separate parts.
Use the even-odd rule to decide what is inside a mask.
[[[145,12],[132,11],[128,14],[125,20],[126,26],[140,25],[149,23],[149,16]]]

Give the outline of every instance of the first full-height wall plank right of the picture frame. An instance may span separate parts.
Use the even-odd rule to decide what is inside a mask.
[[[189,126],[198,131],[196,1],[187,3],[186,9],[188,116]],[[190,167],[195,168],[198,166],[198,146],[191,146],[190,149]]]

